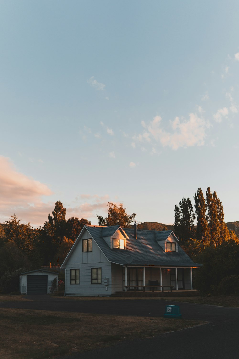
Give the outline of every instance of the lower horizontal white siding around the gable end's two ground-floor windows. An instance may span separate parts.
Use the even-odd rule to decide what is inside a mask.
[[[80,284],[70,284],[70,269],[80,269]],[[101,268],[101,284],[91,284],[91,268]],[[108,285],[104,285],[104,278]],[[111,263],[85,263],[66,265],[66,295],[111,295]],[[107,288],[107,290],[106,290]]]

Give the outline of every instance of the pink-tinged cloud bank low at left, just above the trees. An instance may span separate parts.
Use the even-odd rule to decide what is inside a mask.
[[[30,222],[33,227],[42,226],[52,213],[57,200],[42,202],[42,196],[50,196],[47,185],[33,180],[14,168],[9,158],[0,156],[0,222],[11,218],[14,213],[22,223]],[[109,196],[81,195],[87,202],[78,206],[66,207],[66,219],[70,217],[87,218],[97,223],[96,214],[106,215]],[[91,203],[89,203],[91,202]]]

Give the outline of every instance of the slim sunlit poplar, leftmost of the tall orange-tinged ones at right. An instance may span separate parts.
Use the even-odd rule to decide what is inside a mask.
[[[197,216],[196,238],[204,245],[210,243],[209,227],[206,220],[206,203],[201,188],[193,196],[195,200],[195,213]]]

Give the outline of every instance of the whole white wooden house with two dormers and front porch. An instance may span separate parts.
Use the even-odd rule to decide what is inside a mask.
[[[125,285],[150,281],[190,290],[192,268],[199,267],[171,230],[137,230],[136,223],[134,229],[85,225],[61,266],[66,271],[65,295],[87,296],[110,296],[126,290]]]

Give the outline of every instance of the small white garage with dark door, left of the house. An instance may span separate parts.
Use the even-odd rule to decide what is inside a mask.
[[[52,281],[58,273],[46,270],[34,270],[21,273],[19,277],[19,292],[21,294],[50,294]]]

